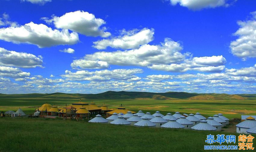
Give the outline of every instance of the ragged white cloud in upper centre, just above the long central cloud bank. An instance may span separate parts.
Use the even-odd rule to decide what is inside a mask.
[[[99,50],[106,49],[108,46],[111,48],[134,49],[151,42],[154,39],[153,35],[154,29],[152,28],[143,28],[140,31],[138,29],[131,31],[123,30],[121,36],[93,42],[93,47]]]

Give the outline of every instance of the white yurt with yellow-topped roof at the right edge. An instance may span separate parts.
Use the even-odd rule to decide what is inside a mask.
[[[255,118],[248,117],[245,121],[236,125],[236,132],[237,133],[247,133],[246,131],[252,127],[256,126]]]

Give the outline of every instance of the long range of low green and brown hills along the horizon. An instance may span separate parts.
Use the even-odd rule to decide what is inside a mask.
[[[0,94],[1,98],[51,98],[51,99],[91,99],[91,100],[123,100],[123,99],[155,99],[155,100],[249,100],[256,99],[256,94],[217,94],[217,93],[188,93],[188,92],[127,92],[107,91],[98,94],[80,93],[30,93],[30,94]]]

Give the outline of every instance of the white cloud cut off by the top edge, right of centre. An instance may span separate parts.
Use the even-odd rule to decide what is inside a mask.
[[[169,0],[172,5],[180,4],[192,10],[201,10],[202,8],[214,8],[219,6],[228,6],[226,0]]]

